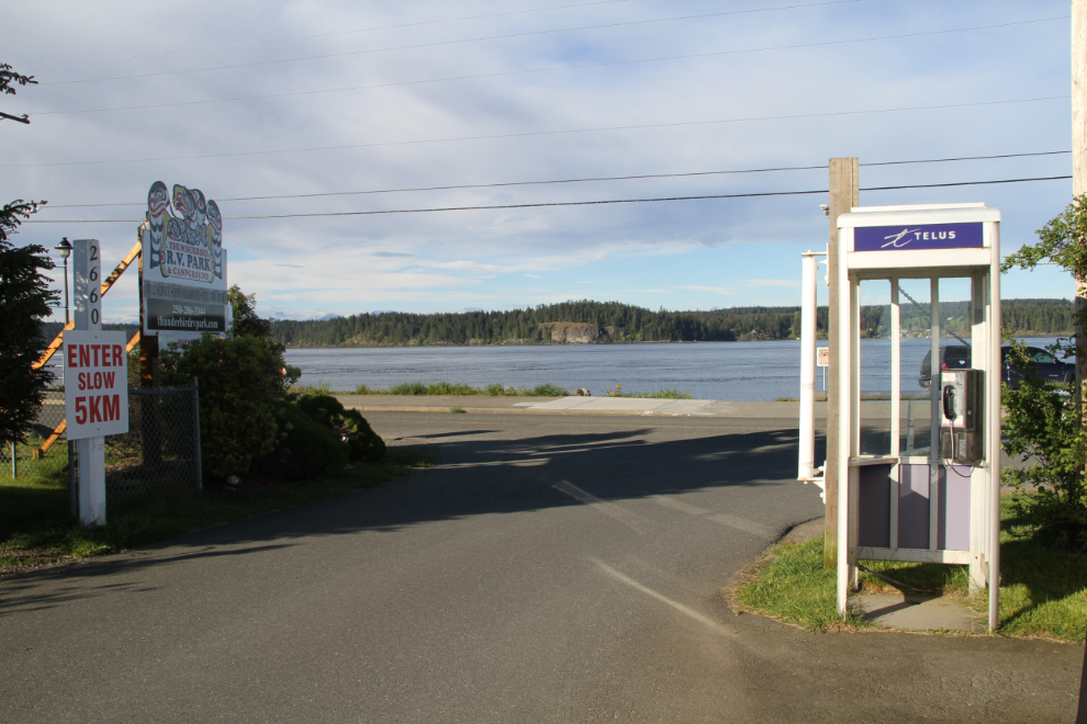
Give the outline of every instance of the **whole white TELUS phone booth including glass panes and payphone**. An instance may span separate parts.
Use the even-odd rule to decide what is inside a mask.
[[[1000,579],[1000,212],[980,203],[856,207],[838,219],[838,610],[845,612],[859,561],[963,564],[973,589],[989,586],[991,631]],[[941,284],[959,297],[944,315]],[[874,291],[886,303],[865,306]],[[917,296],[928,296],[927,315]],[[953,347],[942,353],[949,333]],[[889,343],[862,348],[862,337]],[[889,367],[889,405],[862,404],[865,358]]]

